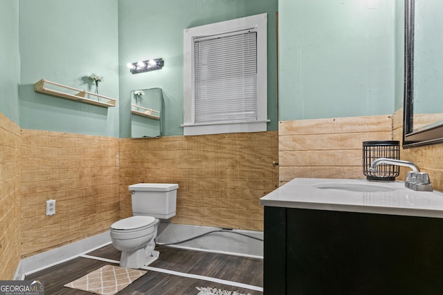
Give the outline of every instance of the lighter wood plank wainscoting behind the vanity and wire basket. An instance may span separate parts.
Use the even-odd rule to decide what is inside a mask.
[[[392,115],[279,122],[280,185],[293,178],[365,178],[362,143],[392,140]]]

